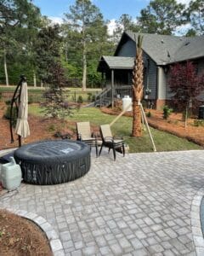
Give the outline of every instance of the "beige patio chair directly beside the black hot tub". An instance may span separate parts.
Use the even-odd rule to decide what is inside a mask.
[[[89,122],[78,122],[77,123],[77,140],[88,144],[90,147],[96,148],[96,156],[98,156],[98,142],[97,136],[94,132],[91,132]]]

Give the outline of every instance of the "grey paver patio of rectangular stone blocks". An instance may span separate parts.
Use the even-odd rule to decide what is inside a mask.
[[[201,230],[191,217],[202,187],[204,151],[118,155],[114,162],[104,150],[97,159],[93,153],[86,176],[53,186],[22,184],[19,194],[0,198],[0,207],[45,218],[65,255],[196,255],[203,241],[197,236],[196,244],[193,233]]]

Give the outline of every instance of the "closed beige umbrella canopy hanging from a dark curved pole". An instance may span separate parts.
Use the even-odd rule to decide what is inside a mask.
[[[20,90],[20,106],[15,132],[23,138],[30,135],[30,129],[27,121],[28,116],[28,93],[27,83],[23,82]]]

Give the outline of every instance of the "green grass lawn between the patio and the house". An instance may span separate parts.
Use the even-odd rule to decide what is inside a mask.
[[[42,115],[41,109],[29,107],[30,113]],[[81,108],[79,111],[74,110],[73,114],[67,119],[71,121],[90,121],[92,125],[110,124],[116,116],[102,113],[99,108]],[[75,129],[75,127],[70,127]],[[131,137],[132,119],[122,116],[111,126],[113,134],[123,137],[129,145],[130,152],[152,152],[152,145],[147,131],[143,132],[142,137]],[[157,151],[174,151],[174,150],[190,150],[203,149],[195,143],[190,143],[188,140],[173,136],[167,132],[158,131],[150,128],[152,136],[156,144]]]

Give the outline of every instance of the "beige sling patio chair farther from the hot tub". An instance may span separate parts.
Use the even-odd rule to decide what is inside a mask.
[[[122,137],[113,137],[111,133],[110,125],[100,125],[100,135],[102,138],[102,144],[99,150],[101,154],[102,148],[109,148],[109,152],[113,150],[114,160],[116,160],[116,151],[119,151],[125,156],[124,140]]]

